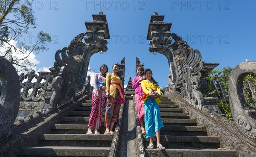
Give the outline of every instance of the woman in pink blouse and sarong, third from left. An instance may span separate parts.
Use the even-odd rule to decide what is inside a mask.
[[[145,135],[145,126],[144,126],[144,107],[143,107],[143,102],[142,102],[142,96],[143,96],[143,90],[141,88],[141,81],[145,80],[145,76],[143,74],[143,67],[142,66],[137,66],[136,72],[137,72],[137,77],[133,78],[132,81],[132,88],[135,89],[135,101],[136,101],[136,108],[137,108],[137,113],[139,117],[139,122],[141,126],[141,133]]]

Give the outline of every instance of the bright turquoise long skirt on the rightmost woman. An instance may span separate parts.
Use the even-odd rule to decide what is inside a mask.
[[[160,117],[159,105],[154,99],[148,98],[143,106],[145,110],[146,138],[148,139],[156,135],[156,132],[163,127],[163,122]]]

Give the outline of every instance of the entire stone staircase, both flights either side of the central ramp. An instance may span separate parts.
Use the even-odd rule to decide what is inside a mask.
[[[146,147],[148,146],[149,141],[143,136],[145,156],[237,157],[235,151],[218,149],[221,148],[219,138],[208,137],[206,128],[204,126],[197,126],[196,120],[189,119],[189,115],[183,113],[183,109],[171,102],[171,99],[163,97],[161,98],[161,101],[160,114],[164,127],[161,128],[160,142],[166,147],[166,150],[160,151],[156,149],[156,137],[153,138],[155,149],[147,149]],[[18,157],[111,156],[111,143],[114,136],[103,134],[105,131],[103,125],[104,118],[102,119],[102,127],[99,130],[101,133],[100,135],[86,134],[91,104],[92,101],[90,99],[77,105],[74,110],[67,113],[67,116],[61,117],[60,122],[51,128],[49,134],[42,134],[38,138],[36,146],[21,148]],[[125,116],[130,117],[131,115],[130,113],[127,113]],[[130,124],[130,122],[128,123]],[[134,129],[130,128],[130,130]],[[120,134],[124,133],[124,131],[120,132]],[[128,143],[126,144],[126,147],[131,147],[132,149],[138,148],[137,145],[129,145],[129,138],[127,137],[127,139]],[[118,143],[118,145],[120,144],[123,146],[124,144],[122,144],[122,140],[120,140],[120,142],[121,143]],[[128,153],[130,149],[124,149],[127,149],[127,156],[128,154],[131,154]],[[122,154],[121,151],[123,151],[123,149],[119,148],[117,154]]]

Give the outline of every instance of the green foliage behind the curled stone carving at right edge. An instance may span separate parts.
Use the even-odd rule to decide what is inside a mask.
[[[227,118],[232,118],[228,95],[228,80],[233,69],[224,67],[222,70],[213,69],[204,79],[207,80],[205,97],[218,97],[218,106],[221,113]],[[256,74],[248,74],[244,77],[244,99],[248,109],[256,109]]]

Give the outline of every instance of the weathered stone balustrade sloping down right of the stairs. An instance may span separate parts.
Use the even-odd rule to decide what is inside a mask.
[[[171,92],[166,92],[166,96],[171,98],[175,104],[180,105],[184,112],[189,114],[191,119],[197,121],[199,126],[205,126],[208,136],[219,137],[221,148],[237,151],[239,157],[256,156],[255,140],[245,137],[232,119],[227,119],[216,112],[213,113],[212,117],[202,110],[192,108],[180,96]]]

